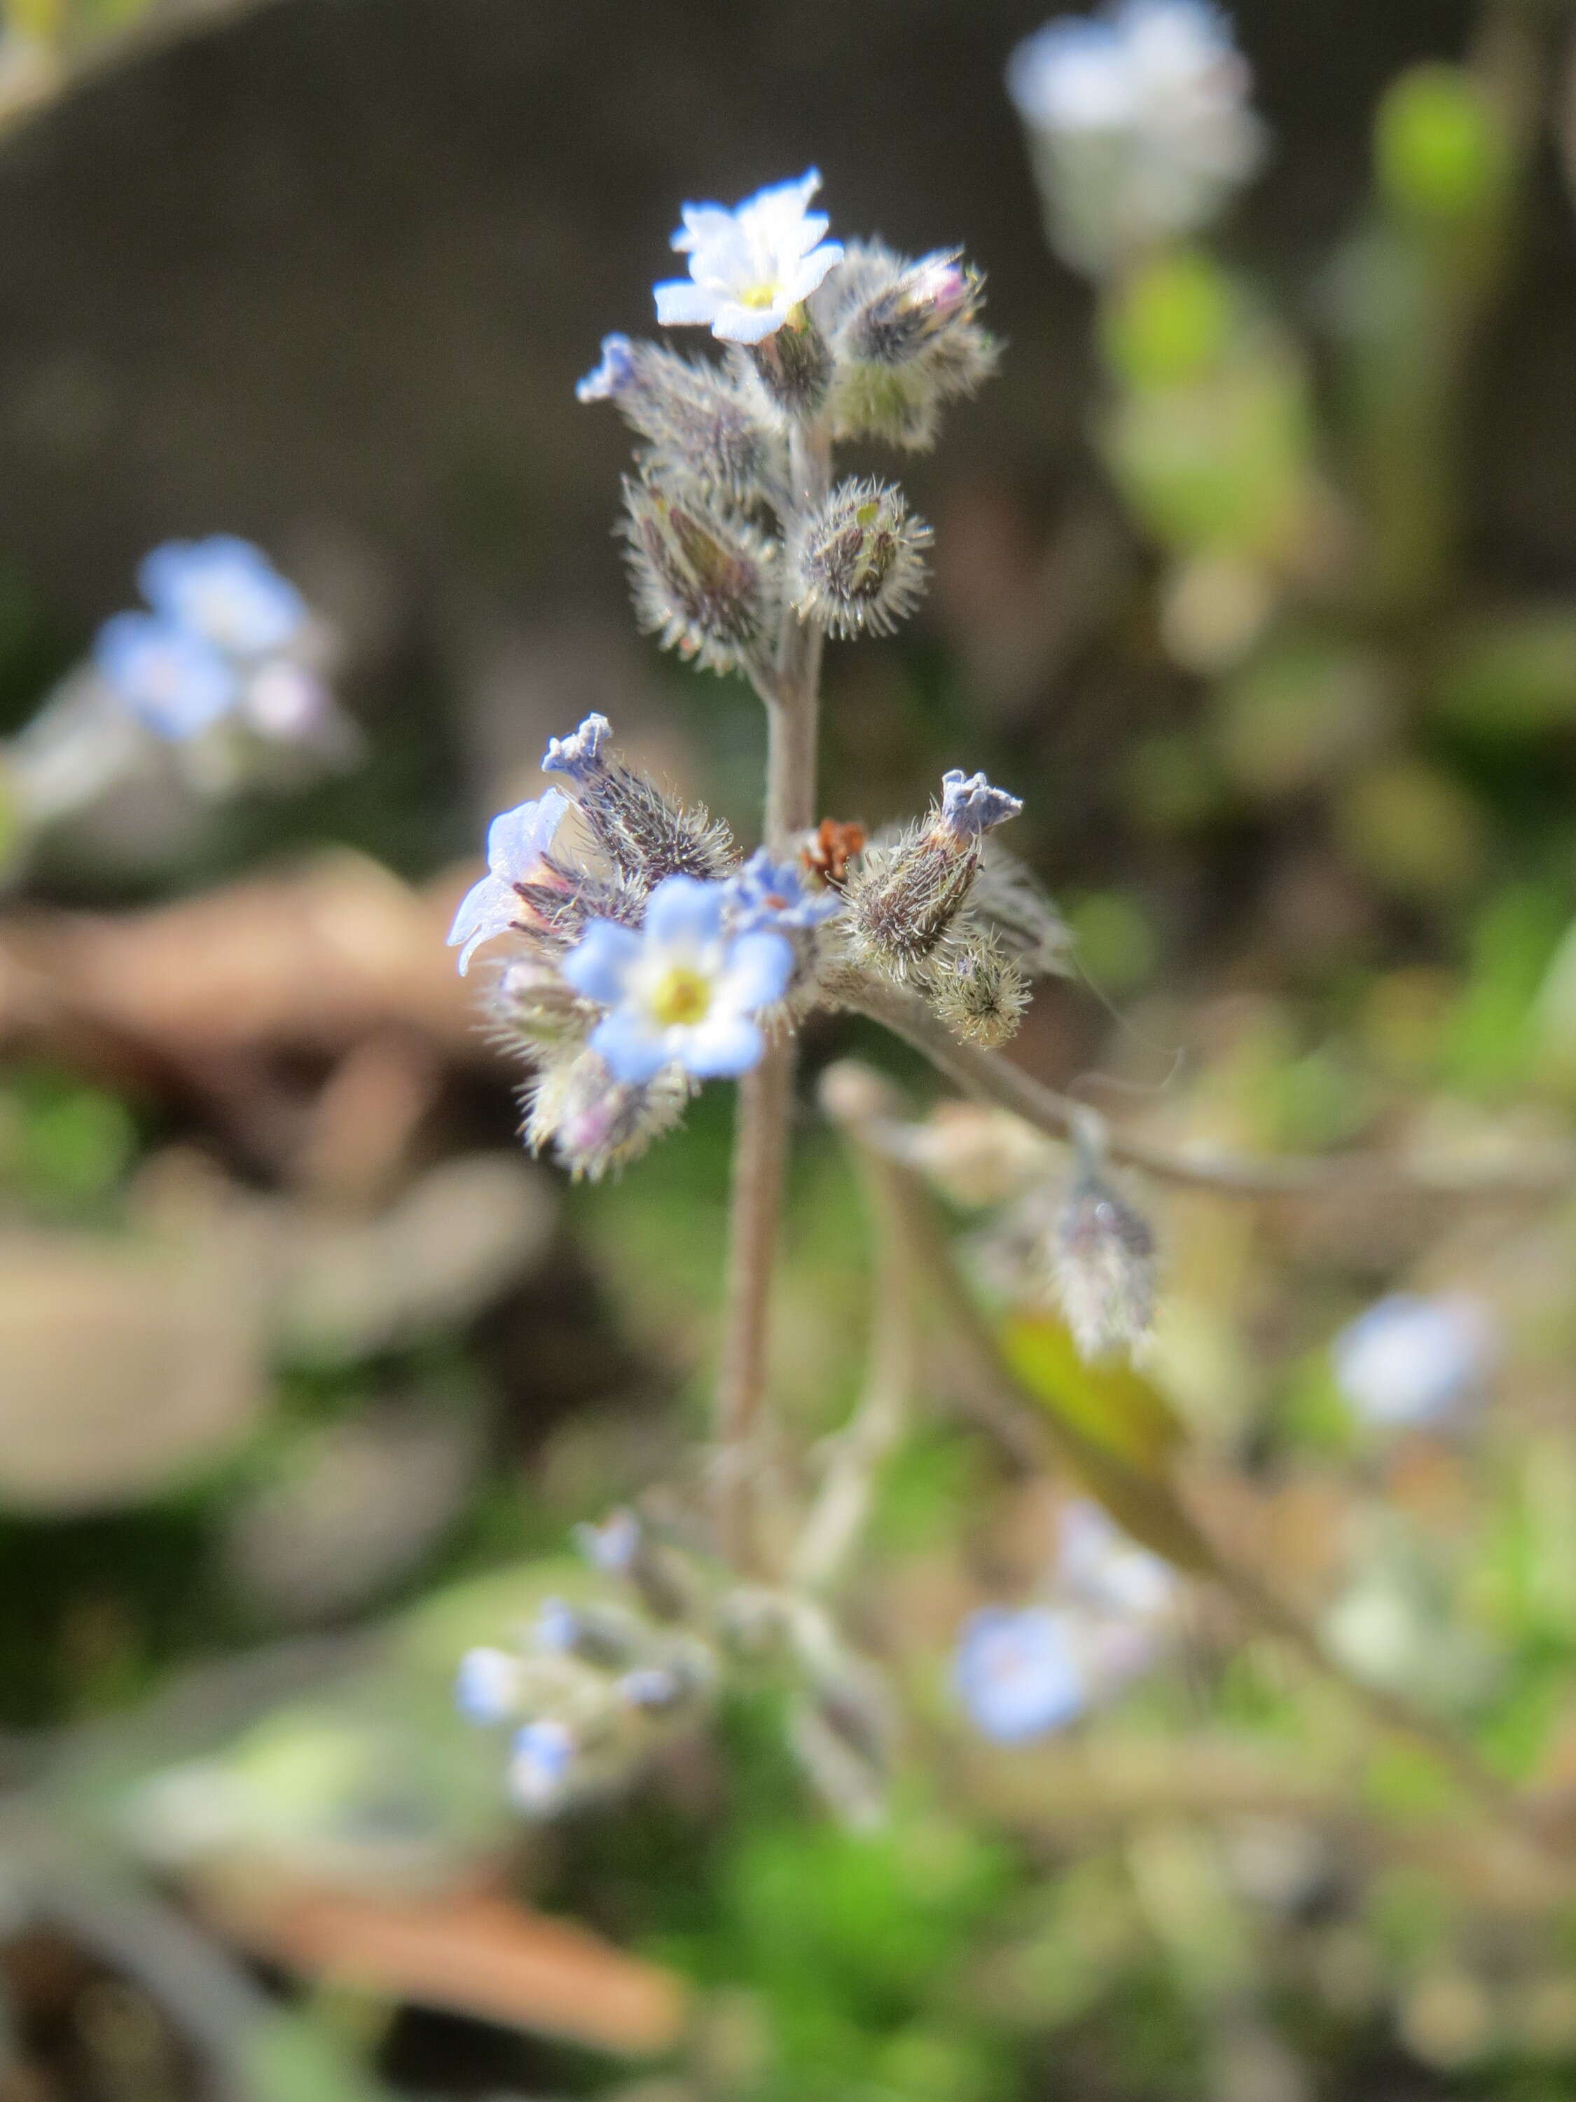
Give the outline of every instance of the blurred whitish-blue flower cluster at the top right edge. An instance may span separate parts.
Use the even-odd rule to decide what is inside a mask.
[[[1206,227],[1259,168],[1265,128],[1231,25],[1206,0],[1116,0],[1013,53],[1051,246],[1099,277]]]

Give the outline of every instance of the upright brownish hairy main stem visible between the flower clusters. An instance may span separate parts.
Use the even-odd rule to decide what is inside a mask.
[[[792,515],[815,509],[832,479],[832,446],[824,427],[792,431]],[[822,700],[822,631],[784,607],[767,704],[765,834],[786,856],[796,832],[815,822],[815,742]],[[740,1083],[729,1207],[727,1299],[717,1381],[717,1532],[735,1568],[756,1560],[752,1446],[767,1396],[767,1337],[777,1215],[794,1101],[794,1043],[780,1036],[754,1072]]]

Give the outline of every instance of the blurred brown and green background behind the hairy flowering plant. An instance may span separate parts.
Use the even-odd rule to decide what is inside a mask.
[[[1044,244],[1002,90],[1042,13],[214,0],[23,6],[0,44],[4,727],[151,544],[225,530],[334,624],[366,734],[290,792],[143,784],[0,904],[6,2098],[1576,2089],[1559,1848],[1467,1843],[1427,1755],[1364,1749],[1219,1604],[1088,1734],[979,1753],[941,1658],[1049,1520],[943,1421],[859,1606],[925,1688],[885,1831],[828,1820],[750,1703],[525,1829],[448,1707],[574,1522],[679,1499],[704,1423],[729,1091],[569,1188],[443,950],[485,820],[590,708],[754,830],[759,708],[635,633],[624,433],[574,399],[647,324],[681,198],[813,162],[834,231],[988,273],[1002,370],[904,473],[920,616],[830,652],[824,807],[883,824],[956,763],[1023,795],[1080,965],[1013,1055],[1250,1152],[1570,1143],[1565,13],[1236,8],[1273,153],[1215,252],[1294,345],[1292,479],[1332,492],[1236,645],[1177,612],[1221,547],[1112,441],[1143,345]],[[1465,61],[1511,174],[1418,233],[1376,111]],[[933,1099],[815,1024],[811,1072],[851,1053]],[[868,1255],[809,1089],[799,1137],[780,1383],[813,1436]],[[1217,1501],[1252,1484],[1320,1610],[1366,1600],[1374,1682],[1568,1782],[1570,1200],[1189,1202],[1156,1377]],[[1494,1314],[1471,1436],[1378,1448],[1343,1410],[1330,1337],[1397,1282]]]

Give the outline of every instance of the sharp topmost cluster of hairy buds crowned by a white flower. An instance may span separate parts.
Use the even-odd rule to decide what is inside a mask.
[[[656,288],[658,322],[729,349],[693,362],[605,336],[576,393],[614,401],[641,439],[624,486],[635,605],[664,647],[767,685],[784,614],[832,635],[889,633],[918,601],[929,528],[901,494],[849,479],[801,509],[794,423],[922,446],[943,401],[992,370],[977,271],[828,242],[811,168],[733,210],[687,204],[672,246],[689,277]]]

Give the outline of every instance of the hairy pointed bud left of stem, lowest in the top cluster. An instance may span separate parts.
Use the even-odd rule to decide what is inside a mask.
[[[773,639],[775,547],[687,479],[626,479],[624,507],[641,626],[704,671],[748,668]]]

